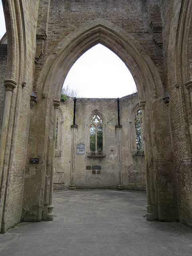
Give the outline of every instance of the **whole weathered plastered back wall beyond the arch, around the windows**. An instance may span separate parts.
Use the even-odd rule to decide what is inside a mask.
[[[120,120],[122,120],[122,184],[125,189],[146,190],[144,154],[136,155],[138,150],[130,150],[130,144],[136,145],[134,124],[130,135],[130,118],[134,120],[138,106],[138,96],[132,94],[120,99]],[[69,98],[61,105],[64,115],[62,138],[58,134],[58,146],[62,140],[62,150],[56,150],[54,189],[68,189],[70,186],[71,170],[71,146],[73,124],[73,98]],[[105,157],[89,157],[89,123],[88,117],[94,110],[98,110],[104,116],[103,126],[104,155]],[[104,121],[103,120],[103,121]],[[60,126],[62,125],[59,120]],[[77,154],[75,148],[75,185],[76,188],[117,188],[118,185],[118,145],[116,125],[118,124],[118,108],[116,99],[86,99],[76,100],[76,146],[85,145],[85,154]],[[61,152],[62,151],[62,152]],[[135,155],[134,155],[135,154]],[[134,155],[134,156],[133,156]],[[91,166],[86,170],[86,166]],[[101,166],[100,174],[92,173],[92,166]]]

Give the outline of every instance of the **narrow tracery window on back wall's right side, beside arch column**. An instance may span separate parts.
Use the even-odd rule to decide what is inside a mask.
[[[135,124],[135,134],[136,134],[136,148],[137,149],[144,149],[141,109],[138,109],[137,112],[136,112],[134,124]]]

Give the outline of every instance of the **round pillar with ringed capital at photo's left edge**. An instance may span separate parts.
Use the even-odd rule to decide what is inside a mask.
[[[3,163],[4,163],[4,154],[6,148],[6,138],[7,138],[7,130],[9,123],[9,114],[11,107],[11,98],[14,88],[16,88],[17,83],[14,80],[6,79],[4,80],[4,86],[6,88],[6,96],[5,96],[5,104],[4,104],[4,112],[3,112],[3,120],[2,120],[2,128],[1,128],[1,138],[0,138],[0,201],[4,200],[4,194],[2,194],[2,174],[3,174]],[[7,170],[7,169],[6,169]],[[7,173],[3,174],[4,178],[6,178]],[[0,205],[2,203],[0,202]],[[2,210],[0,210],[0,230],[2,223]]]

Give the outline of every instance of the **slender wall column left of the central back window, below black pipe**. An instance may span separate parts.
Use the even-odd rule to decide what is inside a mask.
[[[71,177],[69,189],[76,189],[75,186],[75,150],[76,150],[76,131],[78,125],[73,124],[72,128],[72,150],[71,150]]]

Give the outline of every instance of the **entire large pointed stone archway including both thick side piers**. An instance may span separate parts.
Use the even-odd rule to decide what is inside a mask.
[[[35,85],[38,102],[31,110],[22,220],[53,219],[54,134],[62,84],[74,62],[98,43],[124,61],[138,88],[144,123],[147,220],[175,221],[178,213],[170,124],[158,70],[130,34],[101,19],[66,36],[46,58],[40,72]],[[40,164],[28,164],[30,157],[40,158]]]

